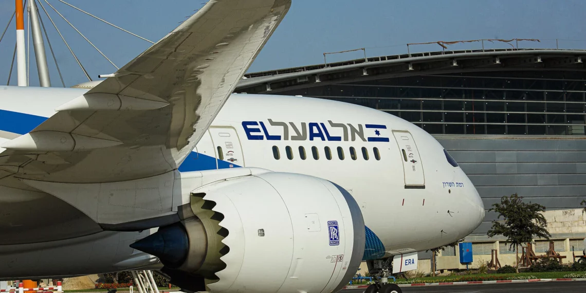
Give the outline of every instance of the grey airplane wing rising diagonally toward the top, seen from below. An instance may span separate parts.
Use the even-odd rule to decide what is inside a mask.
[[[2,170],[26,179],[94,183],[178,168],[290,5],[209,1],[35,130],[2,145]]]

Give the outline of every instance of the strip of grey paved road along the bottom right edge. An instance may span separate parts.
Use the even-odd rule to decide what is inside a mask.
[[[401,287],[404,293],[448,293],[448,292],[586,292],[586,282],[533,282],[509,284],[479,284],[479,285],[441,285],[421,287]],[[346,289],[343,293],[362,293],[364,289]]]

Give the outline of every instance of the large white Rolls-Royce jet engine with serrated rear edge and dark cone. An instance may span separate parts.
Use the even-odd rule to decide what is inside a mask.
[[[190,209],[195,216],[132,245],[159,257],[183,289],[332,292],[362,261],[362,213],[328,180],[277,172],[221,180],[193,190]]]

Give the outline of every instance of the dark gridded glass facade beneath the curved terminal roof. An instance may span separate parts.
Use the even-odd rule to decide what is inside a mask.
[[[288,90],[375,108],[431,134],[585,135],[586,74],[495,71]]]

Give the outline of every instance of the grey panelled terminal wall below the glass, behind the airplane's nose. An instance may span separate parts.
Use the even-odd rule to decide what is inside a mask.
[[[586,137],[435,135],[468,174],[488,210],[500,197],[518,193],[548,210],[575,209],[586,199]],[[561,212],[563,213],[563,212]],[[558,217],[558,216],[551,216]],[[580,216],[551,223],[552,236],[586,236],[575,228]],[[468,240],[488,240],[496,214],[485,220]],[[553,219],[553,218],[552,218]],[[583,226],[583,223],[582,223]]]

